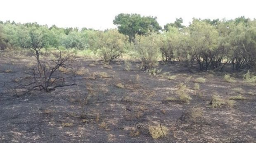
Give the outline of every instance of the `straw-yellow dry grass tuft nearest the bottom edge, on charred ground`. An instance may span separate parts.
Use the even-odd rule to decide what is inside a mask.
[[[153,125],[153,126],[148,126],[150,135],[152,136],[153,139],[158,139],[164,136],[167,136],[168,134],[168,128],[165,126],[160,126],[160,125]]]

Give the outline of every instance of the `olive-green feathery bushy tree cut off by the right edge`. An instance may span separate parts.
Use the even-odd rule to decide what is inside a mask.
[[[239,70],[244,67],[256,67],[256,21],[237,24],[230,27],[231,32],[228,35],[228,41],[231,50],[228,54],[229,60],[233,65],[233,70]]]

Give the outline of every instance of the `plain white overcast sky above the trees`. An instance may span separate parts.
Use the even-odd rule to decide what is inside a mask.
[[[193,17],[234,19],[256,17],[254,0],[1,0],[0,20],[37,22],[58,27],[115,28],[119,13],[157,16],[158,23],[182,17],[187,25]]]

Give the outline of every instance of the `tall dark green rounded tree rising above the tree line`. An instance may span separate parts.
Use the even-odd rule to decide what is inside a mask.
[[[157,17],[141,16],[140,14],[118,14],[113,21],[120,33],[129,36],[129,41],[134,41],[135,34],[147,35],[153,31],[161,30]]]

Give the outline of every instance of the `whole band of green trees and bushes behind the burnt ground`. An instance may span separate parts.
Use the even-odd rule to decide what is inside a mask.
[[[0,21],[0,49],[30,48],[32,35],[41,39],[41,47],[90,49],[109,63],[127,51],[136,51],[145,70],[151,69],[159,54],[165,61],[184,61],[200,70],[222,70],[230,63],[233,70],[255,69],[256,20],[183,19],[167,23],[163,29],[157,17],[118,14],[117,29],[94,30],[48,27],[35,23]]]

